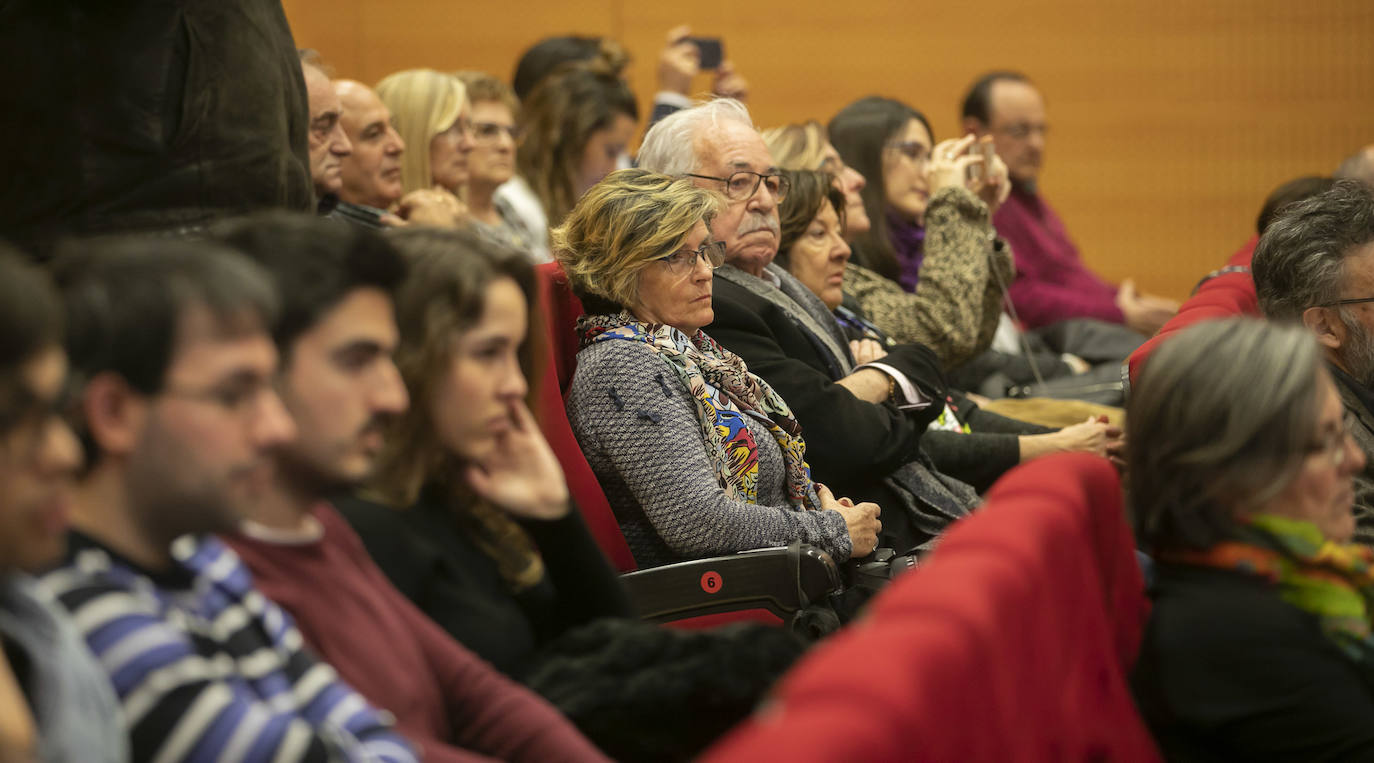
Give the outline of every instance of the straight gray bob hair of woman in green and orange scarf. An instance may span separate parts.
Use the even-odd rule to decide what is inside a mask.
[[[1127,412],[1128,506],[1146,551],[1204,550],[1294,478],[1320,349],[1296,323],[1198,323],[1150,355]]]

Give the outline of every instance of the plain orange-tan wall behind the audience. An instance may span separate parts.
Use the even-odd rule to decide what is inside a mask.
[[[826,121],[882,93],[921,109],[936,137],[948,137],[974,76],[1021,69],[1050,106],[1043,188],[1087,261],[1175,297],[1249,236],[1274,186],[1330,172],[1374,143],[1370,0],[284,5],[298,45],[364,81],[415,66],[508,78],[540,37],[610,34],[635,56],[631,84],[646,114],[664,34],[691,23],[724,37],[763,126]]]

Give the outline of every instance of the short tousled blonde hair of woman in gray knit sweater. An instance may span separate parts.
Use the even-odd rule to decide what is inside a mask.
[[[551,231],[554,256],[584,302],[600,298],[632,308],[639,274],[676,252],[697,223],[709,228],[723,203],[719,192],[686,179],[620,169],[592,186]]]

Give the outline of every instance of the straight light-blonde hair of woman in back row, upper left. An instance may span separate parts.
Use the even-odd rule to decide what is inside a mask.
[[[467,89],[452,74],[433,69],[407,69],[376,84],[376,96],[392,111],[396,132],[405,142],[401,154],[403,192],[434,186],[430,173],[430,142],[448,131],[467,110]],[[455,194],[462,188],[449,188]]]

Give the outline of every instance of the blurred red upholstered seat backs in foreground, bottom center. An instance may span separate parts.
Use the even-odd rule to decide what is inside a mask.
[[[1158,760],[1125,681],[1147,613],[1116,470],[1035,461],[702,760]]]

